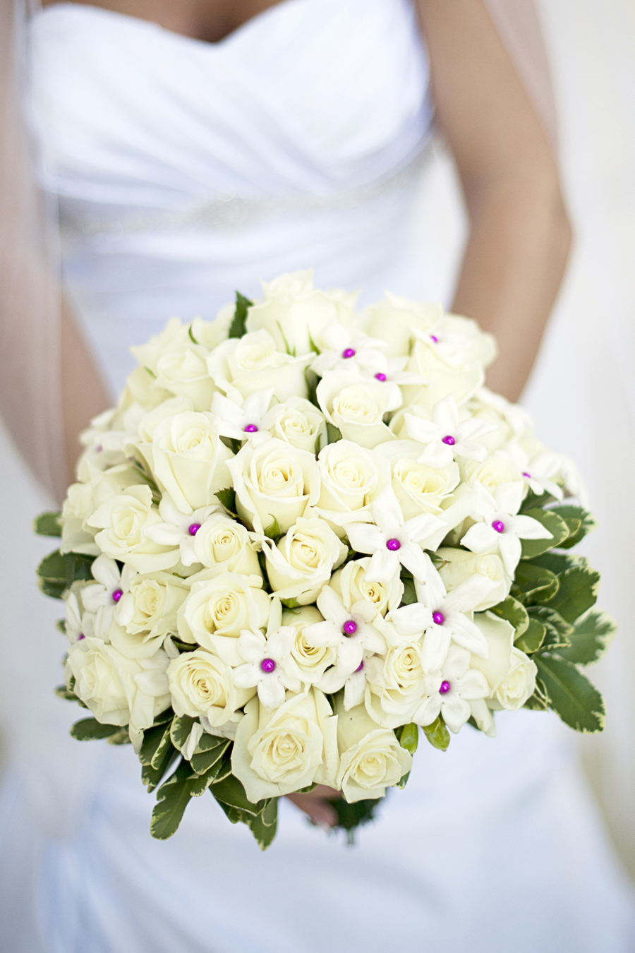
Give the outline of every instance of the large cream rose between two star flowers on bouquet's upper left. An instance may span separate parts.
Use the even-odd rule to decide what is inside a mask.
[[[211,414],[166,417],[154,428],[151,446],[140,450],[159,489],[169,493],[181,513],[208,506],[218,490],[230,485],[227,461],[233,454]]]

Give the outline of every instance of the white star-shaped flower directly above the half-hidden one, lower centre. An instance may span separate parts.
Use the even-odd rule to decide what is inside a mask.
[[[304,636],[308,645],[336,650],[334,675],[329,675],[332,671],[329,669],[324,678],[341,679],[341,688],[345,679],[359,669],[365,650],[367,653],[386,651],[386,639],[373,624],[378,613],[367,599],[360,599],[347,609],[334,589],[323,586],[317,606],[325,620],[306,626]]]

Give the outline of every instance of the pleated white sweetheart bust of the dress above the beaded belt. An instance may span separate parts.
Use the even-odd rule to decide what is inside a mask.
[[[410,0],[285,0],[213,45],[56,5],[32,24],[30,91],[52,184],[106,200],[367,184],[431,112]]]

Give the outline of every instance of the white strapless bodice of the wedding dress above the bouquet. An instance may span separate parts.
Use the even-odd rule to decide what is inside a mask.
[[[410,0],[284,0],[215,44],[65,3],[30,38],[40,177],[117,383],[113,340],[213,316],[257,277],[313,267],[322,284],[414,290],[432,109]]]

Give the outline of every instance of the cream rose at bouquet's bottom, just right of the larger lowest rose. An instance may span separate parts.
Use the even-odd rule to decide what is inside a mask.
[[[349,804],[383,798],[387,787],[407,775],[412,756],[402,748],[394,731],[379,728],[369,718],[364,705],[345,711],[343,699],[338,697],[337,719],[340,770],[336,787]]]

